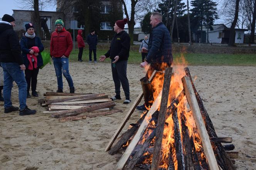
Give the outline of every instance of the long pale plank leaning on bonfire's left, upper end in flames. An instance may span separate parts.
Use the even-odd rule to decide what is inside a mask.
[[[115,167],[116,170],[121,170],[125,167],[127,160],[129,159],[131,153],[133,152],[133,149],[136,147],[137,143],[140,140],[140,137],[143,135],[145,129],[147,128],[148,122],[152,118],[152,114],[155,113],[155,111],[160,106],[161,96],[162,96],[162,90],[159,93],[158,97],[155,99],[155,101],[154,101],[152,107],[150,108],[150,110],[148,111],[145,119],[141,123],[140,128],[138,129],[136,135],[133,137],[133,139],[131,140],[131,143],[126,148],[125,153],[123,153],[123,156],[120,158],[120,160],[116,164],[116,167]]]

